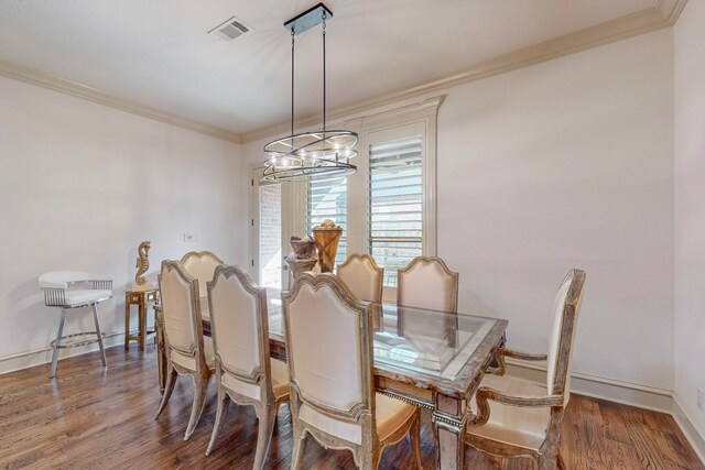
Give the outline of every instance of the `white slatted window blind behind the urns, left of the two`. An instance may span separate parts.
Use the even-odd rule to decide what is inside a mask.
[[[348,192],[347,176],[325,181],[311,181],[306,188],[306,233],[313,237],[313,228],[325,219],[333,220],[343,228],[338,242],[335,264],[345,263],[347,258]]]

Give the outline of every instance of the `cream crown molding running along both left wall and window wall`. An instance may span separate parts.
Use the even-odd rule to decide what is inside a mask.
[[[687,0],[655,0],[654,7],[617,18],[574,33],[565,34],[553,40],[533,44],[500,56],[482,61],[460,73],[433,80],[419,83],[383,95],[358,101],[352,106],[337,108],[328,112],[332,121],[350,119],[356,114],[369,112],[371,109],[417,98],[429,94],[438,94],[447,88],[467,84],[495,75],[516,70],[553,58],[574,54],[592,47],[611,42],[633,37],[640,34],[669,28],[675,24]],[[54,91],[61,91],[88,101],[108,106],[143,118],[154,119],[171,125],[188,129],[216,139],[234,143],[248,143],[275,134],[285,133],[291,123],[280,122],[238,134],[226,129],[204,124],[187,118],[160,111],[148,106],[128,101],[95,88],[55,77],[39,70],[22,67],[8,61],[0,59],[0,76],[24,81]],[[311,127],[318,123],[321,113],[299,119],[300,127]]]

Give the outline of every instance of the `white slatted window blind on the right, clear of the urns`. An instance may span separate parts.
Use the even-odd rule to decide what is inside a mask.
[[[422,138],[370,145],[369,157],[369,253],[397,287],[397,270],[423,253]]]

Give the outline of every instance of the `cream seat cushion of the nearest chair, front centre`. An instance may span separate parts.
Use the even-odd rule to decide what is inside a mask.
[[[383,442],[397,429],[405,426],[409,419],[413,418],[416,406],[404,403],[400,400],[390,398],[380,393],[376,394],[377,401],[377,435]],[[336,436],[348,442],[362,442],[362,428],[355,423],[346,423],[326,416],[311,406],[303,403],[300,408],[300,417],[327,434]]]

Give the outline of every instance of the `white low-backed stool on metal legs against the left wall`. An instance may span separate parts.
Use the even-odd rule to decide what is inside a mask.
[[[56,339],[51,342],[54,352],[48,373],[50,379],[56,376],[58,351],[64,348],[75,348],[97,342],[100,347],[102,367],[108,367],[106,350],[102,346],[105,334],[100,331],[100,321],[98,320],[98,304],[112,297],[112,277],[80,271],[52,271],[42,274],[39,283],[42,291],[44,291],[44,304],[47,307],[59,307],[62,309],[58,332],[56,334]],[[66,311],[80,307],[91,307],[96,330],[64,336]],[[93,338],[94,336],[95,338]]]

